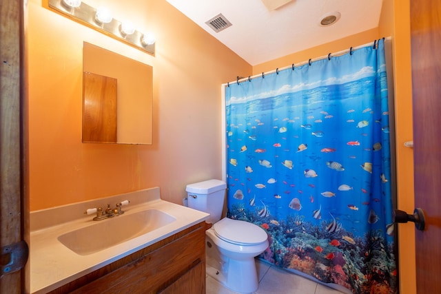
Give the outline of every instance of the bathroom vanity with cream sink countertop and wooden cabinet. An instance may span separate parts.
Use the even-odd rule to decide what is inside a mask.
[[[123,207],[122,216],[99,221],[93,221],[93,216],[69,220],[72,211],[82,213],[94,205],[123,200],[130,200],[130,204]],[[161,200],[158,188],[72,206],[31,213],[30,293],[205,293],[207,213]],[[102,250],[85,250],[91,242],[101,240],[101,231],[118,234],[123,229],[117,222],[134,221],[145,211],[165,213],[167,222],[158,225],[163,216],[155,212],[152,220],[145,218],[146,223],[152,222],[147,226],[153,226],[152,231],[141,230],[139,235],[118,244],[103,242]],[[63,223],[51,225],[49,216]],[[105,229],[104,222],[115,231]],[[96,234],[83,244],[81,232],[90,232],[94,226],[98,228]],[[74,245],[60,242],[60,236],[70,234],[76,240],[72,241]]]

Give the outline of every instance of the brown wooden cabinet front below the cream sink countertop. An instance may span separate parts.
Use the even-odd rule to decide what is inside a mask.
[[[205,222],[51,293],[205,293]]]

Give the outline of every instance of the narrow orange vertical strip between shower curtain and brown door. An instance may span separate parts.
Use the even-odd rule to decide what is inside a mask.
[[[396,125],[397,209],[413,211],[413,139],[410,0],[393,1],[393,83]],[[384,4],[383,4],[384,5]],[[415,226],[398,226],[399,293],[416,293]]]

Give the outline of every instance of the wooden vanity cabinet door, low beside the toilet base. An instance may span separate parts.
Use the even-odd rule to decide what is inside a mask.
[[[161,294],[205,294],[205,262],[199,262],[173,284],[159,291]]]

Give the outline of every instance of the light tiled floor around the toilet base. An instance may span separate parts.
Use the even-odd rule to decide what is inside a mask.
[[[300,275],[289,273],[276,266],[256,260],[259,288],[256,294],[342,294]],[[236,294],[207,275],[207,294]]]

